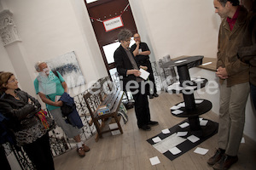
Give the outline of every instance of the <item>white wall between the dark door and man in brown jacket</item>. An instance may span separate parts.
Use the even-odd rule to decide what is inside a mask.
[[[213,0],[129,2],[137,30],[151,46],[155,60],[166,54],[171,58],[199,54],[216,57],[220,18],[214,14]]]

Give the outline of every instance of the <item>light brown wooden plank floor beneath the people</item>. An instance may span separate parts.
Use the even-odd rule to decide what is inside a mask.
[[[151,120],[158,121],[159,126],[152,127],[151,131],[145,132],[137,128],[137,119],[134,109],[128,111],[129,121],[123,127],[124,133],[112,136],[106,133],[103,139],[97,143],[95,138],[86,141],[90,146],[90,152],[86,153],[84,158],[80,158],[76,150],[70,150],[67,153],[56,156],[55,169],[57,170],[207,170],[212,167],[207,165],[207,160],[211,157],[217,146],[218,135],[207,139],[198,146],[206,148],[209,151],[205,156],[195,154],[189,150],[177,159],[170,161],[166,156],[155,150],[151,144],[148,144],[147,139],[161,132],[162,129],[170,128],[184,119],[172,116],[170,107],[183,101],[180,94],[161,93],[160,97],[148,99],[151,111]],[[212,111],[207,112],[203,118],[218,122],[217,114]],[[241,144],[238,153],[239,161],[233,165],[232,170],[253,170],[256,169],[256,145],[251,140],[244,136],[246,143]],[[160,164],[152,166],[149,158],[158,156]]]

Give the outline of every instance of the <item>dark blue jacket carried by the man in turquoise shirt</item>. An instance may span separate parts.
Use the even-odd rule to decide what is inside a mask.
[[[67,93],[62,94],[59,100],[61,100],[62,102],[64,102],[66,105],[69,105],[69,106],[75,105],[73,98],[70,97],[70,95]],[[67,116],[67,119],[73,125],[73,127],[79,127],[79,128],[84,127],[84,124],[76,108],[74,108],[73,112]]]

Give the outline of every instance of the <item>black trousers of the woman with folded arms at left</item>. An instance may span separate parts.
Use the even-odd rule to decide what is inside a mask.
[[[37,170],[55,169],[49,146],[48,133],[44,134],[44,136],[37,139],[32,144],[23,145],[23,149],[26,151],[26,155],[36,166]]]

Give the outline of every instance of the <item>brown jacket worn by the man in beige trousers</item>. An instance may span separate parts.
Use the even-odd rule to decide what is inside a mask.
[[[238,59],[237,51],[244,36],[247,21],[247,10],[241,7],[233,30],[230,31],[227,18],[222,20],[218,33],[217,68],[226,68],[229,77],[227,87],[249,81],[249,66]],[[222,84],[223,79],[219,79]]]

